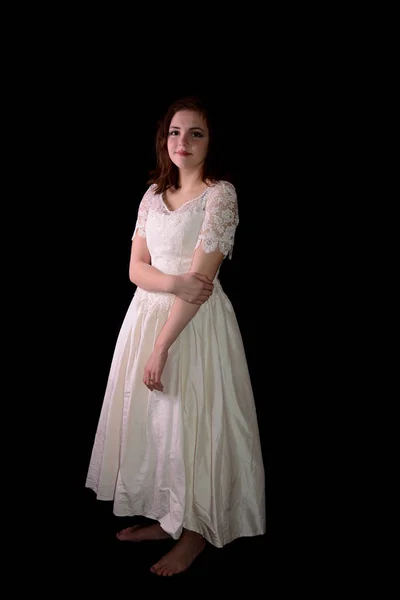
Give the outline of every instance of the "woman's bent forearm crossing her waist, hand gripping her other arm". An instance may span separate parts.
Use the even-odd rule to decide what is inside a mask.
[[[129,279],[146,292],[175,294],[197,307],[210,297],[214,287],[212,281],[201,273],[192,271],[184,275],[167,275],[153,267],[146,239],[140,235],[135,235],[132,241]]]

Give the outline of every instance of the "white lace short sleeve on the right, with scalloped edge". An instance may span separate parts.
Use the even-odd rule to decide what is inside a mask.
[[[236,227],[239,223],[236,190],[231,183],[221,182],[210,192],[206,214],[196,248],[202,244],[204,252],[219,250],[232,258]]]

